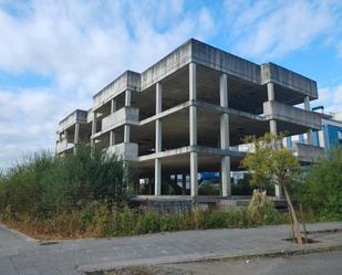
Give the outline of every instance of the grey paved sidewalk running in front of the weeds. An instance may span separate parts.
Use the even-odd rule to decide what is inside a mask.
[[[342,246],[342,222],[309,224],[320,243],[297,245],[289,225],[247,230],[185,231],[122,239],[64,240],[40,245],[0,226],[1,275],[61,275],[135,264],[198,261],[213,257],[281,253]],[[81,273],[82,274],[82,273]]]

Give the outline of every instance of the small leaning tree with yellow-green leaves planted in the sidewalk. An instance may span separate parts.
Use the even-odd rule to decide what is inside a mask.
[[[289,211],[293,222],[294,236],[298,243],[302,243],[300,228],[289,190],[297,181],[300,165],[297,158],[282,147],[282,135],[266,134],[262,137],[247,137],[246,142],[252,146],[252,152],[242,160],[242,166],[251,174],[251,184],[265,186],[268,182],[283,188]]]

